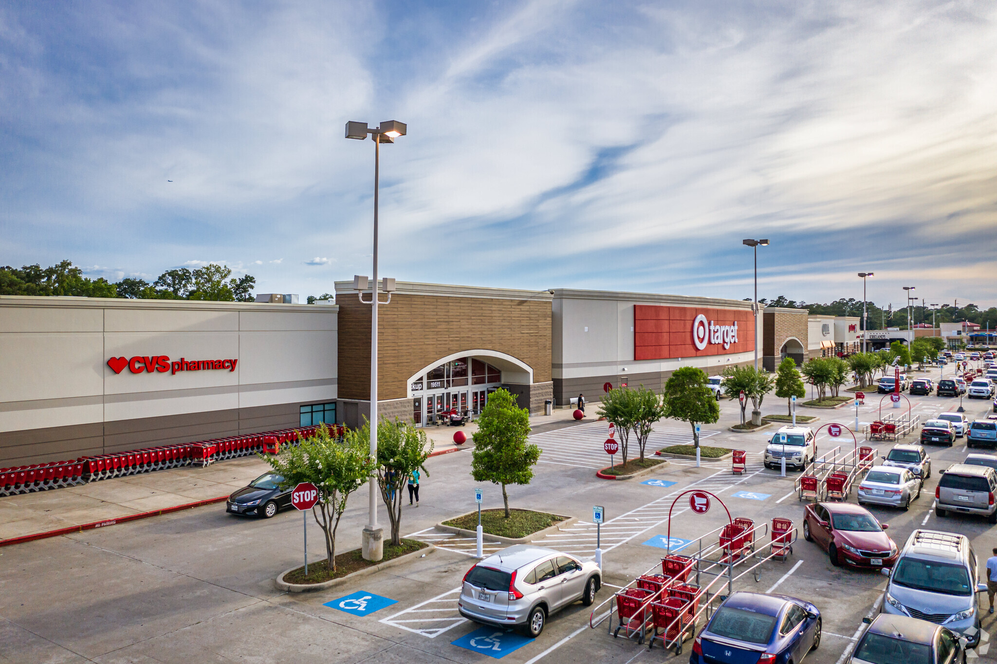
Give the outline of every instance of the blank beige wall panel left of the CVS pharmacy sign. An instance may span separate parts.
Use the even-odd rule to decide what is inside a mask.
[[[100,395],[103,344],[99,332],[0,335],[0,402]]]

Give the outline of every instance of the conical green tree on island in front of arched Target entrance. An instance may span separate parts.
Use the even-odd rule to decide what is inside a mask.
[[[380,431],[380,430],[379,430]],[[508,518],[506,485],[528,485],[540,449],[529,443],[529,411],[515,405],[515,397],[499,388],[489,396],[478,418],[475,449],[471,453],[471,475],[476,482],[501,485],[501,498]]]

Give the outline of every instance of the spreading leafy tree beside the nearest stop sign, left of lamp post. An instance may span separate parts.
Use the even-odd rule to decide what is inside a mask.
[[[369,440],[369,431],[367,436]],[[319,425],[315,436],[297,447],[283,448],[277,456],[259,457],[283,476],[281,489],[302,482],[315,485],[318,502],[312,507],[312,516],[325,535],[328,569],[336,571],[336,528],[346,510],[346,500],[375,473],[369,443],[351,430],[340,443],[329,435],[325,425]]]

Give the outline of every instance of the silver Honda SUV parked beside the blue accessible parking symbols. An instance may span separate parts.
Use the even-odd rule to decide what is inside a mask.
[[[554,611],[578,599],[585,606],[594,602],[600,584],[599,566],[590,560],[516,544],[468,570],[457,607],[475,622],[515,626],[535,638]]]

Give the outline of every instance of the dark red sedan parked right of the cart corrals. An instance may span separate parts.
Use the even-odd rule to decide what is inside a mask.
[[[888,527],[856,504],[816,502],[804,507],[804,538],[827,549],[834,566],[892,567],[899,550],[883,532]]]

